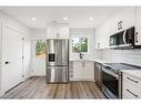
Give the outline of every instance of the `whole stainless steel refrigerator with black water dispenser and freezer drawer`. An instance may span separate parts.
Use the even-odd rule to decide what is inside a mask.
[[[47,83],[69,81],[69,40],[47,40]]]

